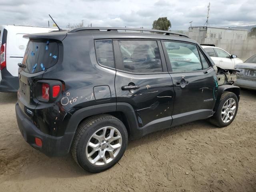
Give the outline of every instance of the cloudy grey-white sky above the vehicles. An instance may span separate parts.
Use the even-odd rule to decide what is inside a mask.
[[[256,23],[255,0],[211,0],[210,26]],[[0,0],[0,24],[48,26],[48,14],[63,28],[68,23],[93,27],[152,28],[167,17],[171,30],[206,22],[209,0]],[[50,26],[53,22],[50,20]]]

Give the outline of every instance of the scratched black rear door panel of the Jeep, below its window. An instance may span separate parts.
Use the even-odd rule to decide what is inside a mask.
[[[122,90],[122,86],[139,85],[136,90]],[[171,117],[173,85],[169,74],[128,74],[116,72],[117,102],[132,106],[138,125],[145,126],[159,118]]]

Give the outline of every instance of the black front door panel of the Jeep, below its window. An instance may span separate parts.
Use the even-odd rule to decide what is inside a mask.
[[[196,110],[212,110],[216,101],[216,77],[213,68],[207,72],[172,73],[175,103],[172,115]],[[184,79],[187,84],[184,88],[179,82]]]

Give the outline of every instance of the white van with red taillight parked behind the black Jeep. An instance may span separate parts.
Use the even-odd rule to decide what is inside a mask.
[[[25,34],[46,33],[57,28],[0,25],[0,92],[17,92],[18,63],[22,62],[28,39]]]

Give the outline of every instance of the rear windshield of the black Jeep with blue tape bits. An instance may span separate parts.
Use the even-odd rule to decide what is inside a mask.
[[[36,73],[46,70],[58,61],[58,43],[52,40],[30,40],[22,64],[24,71]]]

